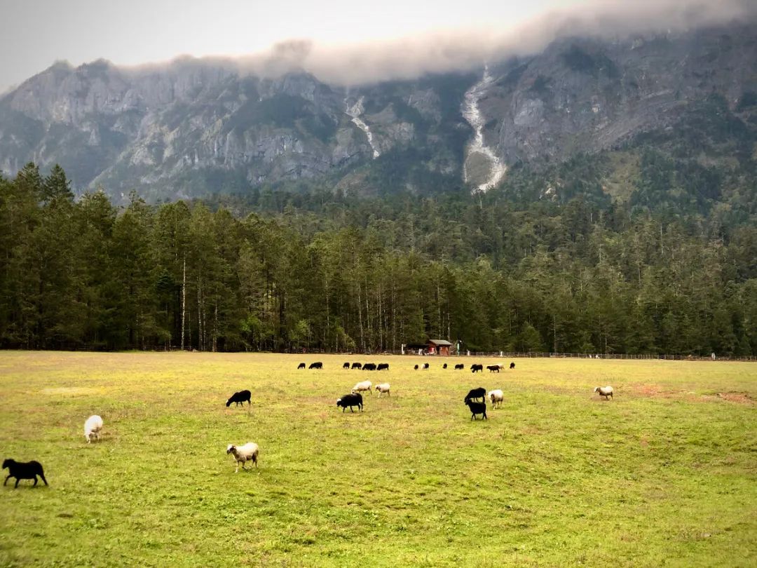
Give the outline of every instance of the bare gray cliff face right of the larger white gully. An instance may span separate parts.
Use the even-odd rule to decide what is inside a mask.
[[[712,94],[736,107],[757,91],[757,33],[731,27],[612,43],[567,39],[498,71],[482,106],[500,158],[562,161],[664,129]]]

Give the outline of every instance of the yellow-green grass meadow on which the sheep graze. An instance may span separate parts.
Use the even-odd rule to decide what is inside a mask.
[[[0,352],[0,457],[50,483],[0,488],[0,566],[757,565],[755,364],[444,361]],[[391,398],[343,414],[363,379]],[[485,422],[478,386],[505,392]]]

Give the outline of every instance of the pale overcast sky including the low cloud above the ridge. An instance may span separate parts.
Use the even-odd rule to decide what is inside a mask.
[[[322,74],[342,67],[332,73],[335,81],[345,82],[346,72],[357,80],[371,73],[407,76],[464,67],[492,51],[534,50],[572,27],[678,27],[738,16],[755,5],[757,0],[0,0],[0,92],[61,60],[75,66],[98,58],[159,63],[180,55],[255,61],[259,54],[292,56],[293,45],[293,56],[308,58]]]

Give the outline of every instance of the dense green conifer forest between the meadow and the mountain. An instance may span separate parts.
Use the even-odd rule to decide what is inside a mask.
[[[0,178],[0,347],[757,354],[753,225],[724,239],[581,179],[558,201],[513,172],[508,198],[281,193],[232,214],[74,199],[27,164]]]

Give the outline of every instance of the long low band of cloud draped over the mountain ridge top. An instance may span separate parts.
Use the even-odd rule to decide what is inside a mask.
[[[291,39],[255,55],[201,58],[198,62],[270,78],[307,71],[325,83],[357,86],[413,79],[425,73],[472,70],[485,61],[537,53],[555,39],[567,36],[618,39],[640,33],[680,33],[734,20],[757,21],[757,2],[584,0],[572,8],[550,11],[515,27],[498,24],[484,29],[439,30],[352,45]]]

